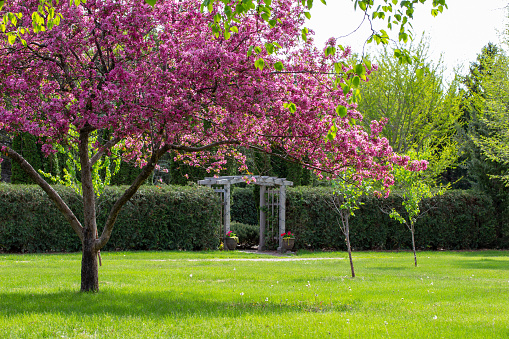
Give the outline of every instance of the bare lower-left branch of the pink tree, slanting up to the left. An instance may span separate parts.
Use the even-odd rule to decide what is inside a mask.
[[[83,227],[81,226],[81,223],[79,222],[78,218],[74,215],[74,213],[71,211],[69,206],[64,202],[64,200],[60,197],[60,195],[51,187],[46,180],[44,180],[39,173],[37,173],[34,168],[16,151],[13,149],[4,146],[0,144],[0,148],[3,152],[7,153],[7,156],[11,158],[12,160],[16,161],[20,167],[28,174],[32,180],[39,185],[46,194],[48,194],[48,197],[51,201],[57,206],[57,208],[62,212],[65,219],[71,224],[72,229],[80,240],[83,240]]]

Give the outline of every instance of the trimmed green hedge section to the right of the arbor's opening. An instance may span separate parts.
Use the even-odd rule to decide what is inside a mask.
[[[249,189],[245,189],[246,191]],[[252,189],[250,189],[252,192]],[[346,250],[337,215],[326,199],[326,187],[296,187],[287,190],[286,230],[296,234],[296,248]],[[255,202],[247,192],[233,195],[232,216],[235,221],[253,224],[250,210]],[[410,249],[411,234],[405,225],[380,211],[381,204],[404,213],[401,200],[391,195],[385,200],[365,197],[364,205],[350,218],[351,242],[357,250]],[[243,213],[236,211],[242,206]],[[419,249],[479,249],[506,247],[497,234],[506,235],[508,225],[497,220],[491,198],[468,191],[448,191],[443,196],[423,201],[423,210],[431,210],[417,221],[416,246]],[[256,212],[257,213],[257,212]],[[404,215],[404,214],[403,214]],[[245,218],[243,216],[246,216]],[[232,217],[233,218],[233,217]]]

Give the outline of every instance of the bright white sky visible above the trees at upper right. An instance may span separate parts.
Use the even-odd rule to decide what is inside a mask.
[[[380,1],[381,2],[381,1]],[[352,0],[328,0],[327,6],[320,1],[313,2],[311,20],[306,26],[316,33],[316,45],[324,46],[325,41],[351,33],[362,22],[363,12],[354,11]],[[468,71],[468,65],[475,61],[477,54],[488,42],[502,46],[501,41],[507,29],[509,0],[446,0],[448,9],[437,17],[431,16],[431,0],[419,4],[412,21],[414,40],[420,40],[422,33],[429,37],[431,59],[437,61],[443,56],[447,78],[452,77],[457,67],[462,74]],[[386,29],[386,21],[376,19],[377,29]],[[338,43],[351,46],[354,53],[362,54],[364,41],[370,35],[369,22],[352,35],[341,38]],[[397,40],[397,31],[389,32]],[[368,54],[376,53],[374,43],[366,45]]]

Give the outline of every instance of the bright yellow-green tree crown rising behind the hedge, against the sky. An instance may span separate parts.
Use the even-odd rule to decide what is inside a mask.
[[[457,162],[454,136],[461,114],[457,84],[444,90],[443,66],[441,61],[435,64],[429,60],[425,41],[410,45],[409,49],[417,58],[413,64],[399,63],[388,48],[377,58],[379,70],[361,85],[359,111],[366,128],[372,120],[388,118],[381,135],[396,153],[426,149],[440,155],[445,171]],[[434,167],[431,162],[431,171],[435,171]]]

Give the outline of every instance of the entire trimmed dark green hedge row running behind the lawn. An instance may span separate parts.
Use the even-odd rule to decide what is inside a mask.
[[[71,189],[58,186],[56,189],[82,220],[80,197]],[[108,211],[123,189],[125,187],[109,187],[99,199],[99,227],[104,224]],[[253,188],[236,188],[233,192],[232,220],[257,225],[258,211]],[[336,215],[325,203],[330,194],[330,189],[323,187],[287,190],[287,231],[296,234],[296,248],[345,249]],[[410,231],[380,212],[382,202],[401,210],[401,201],[395,196],[386,200],[365,198],[365,204],[350,219],[354,249],[411,247]],[[500,235],[509,234],[509,227],[497,220],[490,197],[467,191],[449,191],[423,204],[424,209],[434,208],[417,221],[416,245],[419,249],[505,247],[504,238]],[[216,193],[205,187],[143,186],[122,209],[105,249],[217,248],[220,208]],[[235,225],[233,228],[245,245],[257,242],[255,228],[258,226]],[[78,237],[40,188],[0,184],[0,251],[79,250]]]

